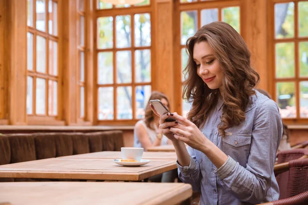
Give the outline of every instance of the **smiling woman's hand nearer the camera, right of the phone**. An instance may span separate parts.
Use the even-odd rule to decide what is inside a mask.
[[[194,123],[178,115],[178,113],[172,114],[179,122],[176,126],[172,126],[169,129],[174,134],[174,137],[185,142],[189,147],[203,152],[208,139]]]

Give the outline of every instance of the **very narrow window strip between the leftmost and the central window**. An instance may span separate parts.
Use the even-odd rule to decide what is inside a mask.
[[[79,118],[85,118],[85,60],[86,60],[86,42],[85,42],[85,1],[78,1],[78,104]]]

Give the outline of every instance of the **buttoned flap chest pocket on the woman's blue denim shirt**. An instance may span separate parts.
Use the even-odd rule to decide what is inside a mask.
[[[252,136],[247,134],[226,133],[226,135],[222,137],[222,141],[223,152],[239,162],[241,166],[246,167]]]

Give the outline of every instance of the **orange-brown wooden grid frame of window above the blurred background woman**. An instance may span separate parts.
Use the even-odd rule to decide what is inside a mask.
[[[93,20],[94,22],[94,57],[93,57],[93,65],[94,65],[94,85],[95,85],[95,91],[94,91],[94,120],[96,121],[95,124],[97,125],[134,125],[136,122],[140,119],[136,118],[136,94],[135,94],[135,89],[137,86],[151,86],[151,90],[153,90],[153,84],[152,82],[155,80],[154,78],[154,55],[155,55],[155,46],[153,45],[153,18],[155,17],[153,15],[154,11],[154,6],[155,4],[153,3],[155,0],[150,0],[149,5],[144,5],[144,6],[130,6],[128,8],[116,8],[114,5],[112,9],[98,9],[98,1],[94,1],[94,8],[95,8],[95,18]],[[150,15],[150,24],[151,24],[151,45],[150,46],[141,46],[141,47],[136,47],[134,45],[134,15],[135,14],[144,14],[148,13]],[[121,16],[121,15],[130,15],[131,20],[131,47],[127,48],[116,48],[116,32],[117,28],[115,26],[116,23],[116,17]],[[108,49],[99,49],[97,47],[97,19],[99,17],[108,17],[112,16],[113,17],[113,47],[108,48]],[[136,83],[134,79],[134,70],[135,70],[135,65],[134,65],[134,52],[136,50],[145,50],[148,49],[151,52],[151,81],[150,82],[145,82],[145,83]],[[99,52],[112,52],[113,55],[113,83],[112,84],[99,84],[98,83],[98,53]],[[123,83],[119,84],[117,83],[117,51],[131,51],[131,83]],[[118,87],[126,87],[126,86],[131,86],[131,99],[132,99],[132,119],[116,119],[117,118],[117,88]],[[108,119],[102,119],[99,120],[99,88],[106,88],[106,87],[112,87],[113,88],[113,119],[108,120]]]

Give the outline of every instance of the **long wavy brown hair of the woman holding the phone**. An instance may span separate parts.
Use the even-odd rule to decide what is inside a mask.
[[[251,53],[240,36],[230,25],[224,22],[213,22],[203,26],[197,33],[188,38],[186,51],[188,63],[184,70],[183,98],[192,102],[187,118],[201,128],[211,110],[216,107],[220,96],[219,89],[211,90],[197,74],[193,59],[194,45],[207,42],[214,50],[224,74],[223,107],[219,133],[225,136],[225,130],[239,125],[245,120],[245,109],[249,97],[256,94],[254,87],[259,83],[259,74],[251,66]]]

